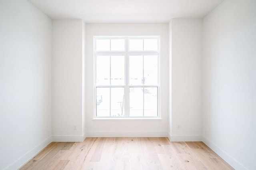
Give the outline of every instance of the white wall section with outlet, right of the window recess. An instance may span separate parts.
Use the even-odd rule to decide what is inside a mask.
[[[201,141],[202,20],[173,19],[171,141]],[[177,126],[180,125],[180,129]]]

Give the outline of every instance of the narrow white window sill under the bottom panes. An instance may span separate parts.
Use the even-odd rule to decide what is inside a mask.
[[[93,121],[162,121],[162,118],[160,117],[138,117],[138,118],[93,118]]]

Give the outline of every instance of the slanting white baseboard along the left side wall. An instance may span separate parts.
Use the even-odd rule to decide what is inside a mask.
[[[31,160],[36,154],[38,154],[41,150],[43,150],[48,144],[52,142],[52,136],[49,136],[40,144],[36,145],[34,148],[26,152],[23,156],[18,158],[15,162],[10,164],[5,170],[16,170],[26,164],[29,160]]]

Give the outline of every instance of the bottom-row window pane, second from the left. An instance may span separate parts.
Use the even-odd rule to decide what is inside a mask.
[[[111,116],[124,116],[124,87],[111,87]]]

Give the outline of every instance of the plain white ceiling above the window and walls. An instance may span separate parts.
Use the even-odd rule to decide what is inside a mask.
[[[28,0],[52,19],[85,22],[169,22],[202,18],[224,0]]]

